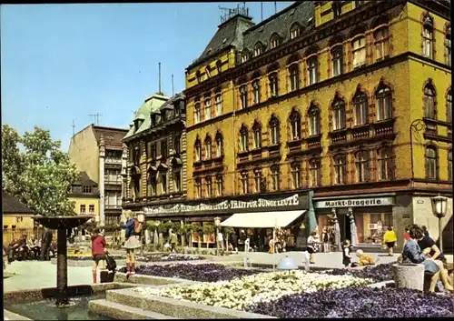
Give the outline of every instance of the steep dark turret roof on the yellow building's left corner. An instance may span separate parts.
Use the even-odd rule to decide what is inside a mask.
[[[217,55],[226,47],[233,45],[237,50],[242,50],[242,33],[252,27],[252,18],[246,15],[234,15],[218,26],[218,30],[212,36],[212,40],[197,59],[188,68],[202,63],[205,59]]]

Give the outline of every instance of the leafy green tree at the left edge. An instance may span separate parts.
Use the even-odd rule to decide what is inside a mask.
[[[68,194],[79,172],[60,147],[60,140],[38,126],[22,136],[2,126],[3,188],[36,214],[75,215]]]

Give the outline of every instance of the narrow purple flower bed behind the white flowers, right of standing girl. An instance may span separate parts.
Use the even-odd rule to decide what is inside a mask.
[[[119,272],[126,272],[126,268],[122,268]],[[137,266],[135,274],[145,276],[164,276],[164,277],[179,277],[187,280],[199,282],[217,282],[222,280],[232,280],[240,276],[252,276],[257,273],[262,273],[261,270],[242,270],[224,266],[221,264],[177,264],[166,266]]]

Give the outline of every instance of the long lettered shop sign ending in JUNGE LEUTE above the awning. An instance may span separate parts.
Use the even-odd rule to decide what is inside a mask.
[[[259,198],[253,201],[228,200],[215,205],[199,204],[189,206],[177,204],[172,207],[153,206],[145,207],[143,211],[146,215],[153,214],[181,214],[181,213],[200,213],[200,212],[223,212],[227,210],[245,210],[245,209],[266,209],[269,207],[287,207],[299,206],[301,198],[298,194],[283,199],[263,199]]]

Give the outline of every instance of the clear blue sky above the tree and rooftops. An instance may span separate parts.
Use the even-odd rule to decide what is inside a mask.
[[[220,24],[218,6],[237,3],[2,5],[2,123],[20,133],[51,130],[67,150],[93,122],[127,128],[133,111],[158,90],[184,89],[184,68]],[[261,4],[246,3],[256,23]],[[278,11],[291,2],[278,2]],[[274,14],[263,3],[263,18]]]

